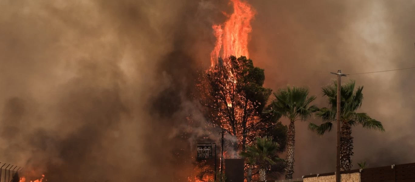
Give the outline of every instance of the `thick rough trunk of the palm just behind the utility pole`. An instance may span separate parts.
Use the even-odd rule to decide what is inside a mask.
[[[349,122],[342,122],[341,134],[340,168],[341,170],[350,170],[353,166],[353,137],[352,125]]]

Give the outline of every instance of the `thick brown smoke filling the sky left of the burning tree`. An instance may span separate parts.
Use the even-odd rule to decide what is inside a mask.
[[[188,175],[209,135],[181,138],[188,115],[205,127],[190,95],[224,18],[215,5],[2,1],[1,161],[49,181]]]

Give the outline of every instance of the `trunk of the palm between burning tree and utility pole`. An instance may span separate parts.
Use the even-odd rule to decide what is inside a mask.
[[[294,148],[295,148],[295,126],[294,126],[294,121],[291,121],[290,125],[288,126],[288,131],[287,131],[286,180],[293,179]]]

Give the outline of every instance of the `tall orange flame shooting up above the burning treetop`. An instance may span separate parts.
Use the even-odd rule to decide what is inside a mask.
[[[215,48],[210,53],[212,66],[217,63],[222,45],[223,57],[230,55],[249,57],[249,33],[252,31],[251,20],[254,18],[255,12],[247,2],[241,2],[241,0],[231,1],[233,2],[234,12],[229,16],[229,19],[222,25],[212,26],[217,39]]]

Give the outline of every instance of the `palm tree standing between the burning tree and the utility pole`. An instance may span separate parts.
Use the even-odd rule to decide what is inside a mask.
[[[309,91],[306,87],[286,87],[279,89],[274,93],[274,99],[271,101],[265,114],[270,114],[275,119],[285,116],[290,120],[287,131],[287,156],[286,156],[286,179],[292,179],[294,173],[294,149],[295,149],[295,125],[294,122],[305,121],[318,108],[310,105],[315,100],[315,96],[308,96]]]

